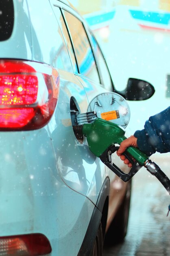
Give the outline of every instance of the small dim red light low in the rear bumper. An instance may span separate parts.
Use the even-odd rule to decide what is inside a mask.
[[[52,251],[43,234],[0,237],[1,256],[41,256]]]

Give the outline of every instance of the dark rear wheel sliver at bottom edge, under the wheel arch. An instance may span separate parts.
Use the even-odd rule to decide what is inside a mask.
[[[102,256],[102,251],[103,251],[103,234],[102,234],[102,223],[100,222],[91,256]]]

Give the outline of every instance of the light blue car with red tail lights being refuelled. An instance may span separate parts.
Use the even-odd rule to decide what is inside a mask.
[[[100,256],[126,235],[131,183],[72,124],[114,90],[105,59],[67,1],[6,0],[0,24],[0,255]]]

